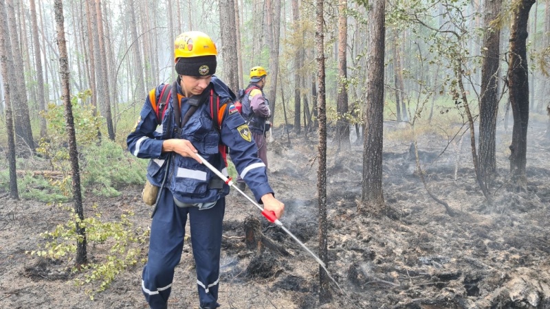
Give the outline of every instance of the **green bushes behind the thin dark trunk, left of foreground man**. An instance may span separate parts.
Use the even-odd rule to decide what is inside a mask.
[[[145,181],[145,160],[135,160],[129,152],[124,151],[113,141],[98,142],[98,129],[101,125],[100,117],[94,113],[93,106],[83,106],[83,102],[89,98],[89,90],[78,93],[72,98],[72,111],[74,117],[74,129],[76,143],[78,145],[81,183],[83,189],[89,190],[101,196],[118,196],[118,185],[141,184]],[[48,137],[40,141],[37,152],[46,157],[52,170],[63,172],[60,179],[51,180],[49,185],[41,183],[41,190],[47,188],[50,191],[60,193],[48,197],[45,192],[36,194],[36,190],[25,190],[31,198],[38,196],[41,201],[65,201],[72,196],[71,187],[71,163],[69,149],[67,147],[67,130],[65,129],[65,107],[50,104],[43,116],[48,124]],[[30,177],[32,179],[32,177]],[[36,181],[36,180],[34,180]],[[45,180],[43,179],[43,182]],[[37,184],[28,180],[21,183],[21,187]],[[32,187],[31,187],[32,189]],[[83,192],[85,192],[83,190]],[[47,192],[47,191],[46,191]],[[22,194],[25,197],[25,194]],[[63,196],[63,198],[61,198]]]

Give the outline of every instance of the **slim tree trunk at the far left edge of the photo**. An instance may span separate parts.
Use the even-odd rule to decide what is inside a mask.
[[[14,80],[13,56],[10,36],[8,35],[8,17],[5,12],[3,0],[0,0],[0,63],[5,98],[5,130],[6,133],[8,133],[8,155],[6,157],[10,165],[10,198],[19,200],[19,190],[17,190],[17,166],[15,162],[12,94],[10,90],[10,80]]]

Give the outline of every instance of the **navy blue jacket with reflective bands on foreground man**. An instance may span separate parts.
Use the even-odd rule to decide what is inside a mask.
[[[181,134],[176,136],[178,133],[172,105],[173,98],[170,97],[168,100],[166,113],[162,122],[158,124],[150,97],[147,96],[140,118],[126,139],[128,148],[135,157],[151,159],[147,167],[147,179],[153,185],[160,186],[162,184],[164,172],[168,168],[165,186],[175,198],[183,203],[207,203],[217,201],[221,196],[227,195],[229,186],[223,184],[216,188],[212,185],[214,180],[219,180],[216,174],[205,165],[197,163],[195,159],[182,157],[175,152],[172,153],[173,159],[170,161],[170,166],[166,166],[168,153],[161,152],[162,142],[164,139],[170,138],[188,139],[197,148],[201,157],[227,175],[225,161],[219,151],[219,144],[224,144],[230,149],[230,156],[237,172],[249,185],[256,201],[261,201],[261,196],[273,193],[273,190],[267,183],[265,164],[257,156],[258,150],[250,129],[232,104],[227,85],[215,76],[212,76],[210,84],[219,96],[220,102],[228,101],[223,111],[220,130],[214,128],[210,115],[210,104],[206,103],[199,106],[181,130]],[[156,102],[160,100],[163,87],[164,85],[161,84],[155,89]],[[179,84],[177,92],[183,96]],[[187,100],[188,98],[181,98],[180,119],[184,118],[190,108]]]

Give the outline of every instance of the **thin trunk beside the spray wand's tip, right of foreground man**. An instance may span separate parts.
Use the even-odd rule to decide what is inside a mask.
[[[329,261],[327,251],[327,110],[325,99],[325,34],[323,33],[323,25],[325,19],[323,17],[324,0],[316,1],[316,30],[315,30],[315,45],[317,49],[317,82],[319,91],[317,93],[317,106],[319,111],[319,157],[318,157],[318,172],[317,172],[317,194],[319,203],[319,258],[325,265]],[[331,301],[332,296],[329,286],[329,276],[325,270],[319,266],[319,303],[327,304]]]

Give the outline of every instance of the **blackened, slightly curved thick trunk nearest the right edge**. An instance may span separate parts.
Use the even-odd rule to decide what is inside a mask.
[[[534,0],[516,0],[508,53],[508,89],[514,115],[510,145],[510,176],[516,190],[527,190],[527,125],[529,124],[529,68],[527,67],[527,22]]]

